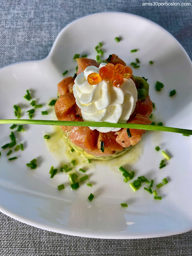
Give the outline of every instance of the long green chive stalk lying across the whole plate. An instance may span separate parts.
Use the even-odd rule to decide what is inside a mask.
[[[192,135],[192,130],[173,128],[167,126],[148,125],[148,124],[122,124],[108,122],[76,122],[76,121],[54,121],[54,120],[28,120],[28,119],[3,119],[0,124],[41,124],[41,125],[63,125],[63,126],[95,126],[95,127],[114,127],[114,128],[131,128],[149,131],[176,132],[181,134]]]

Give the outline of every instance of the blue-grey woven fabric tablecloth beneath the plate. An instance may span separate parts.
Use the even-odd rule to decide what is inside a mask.
[[[142,6],[142,2],[145,1],[0,0],[0,67],[46,57],[57,34],[69,22],[104,11],[130,12],[160,24],[192,58],[192,1],[174,0],[190,2],[191,6],[186,7]],[[0,255],[191,256],[192,232],[144,240],[79,238],[40,230],[0,214]]]

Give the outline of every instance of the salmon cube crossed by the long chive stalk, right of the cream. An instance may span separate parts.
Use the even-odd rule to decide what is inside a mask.
[[[136,114],[136,116],[132,119],[131,122],[128,122],[128,124],[151,124],[151,120],[146,116]],[[133,146],[141,140],[141,136],[144,134],[144,132],[146,132],[146,130],[130,129],[131,137],[129,138],[127,131],[124,128],[117,136],[116,142],[118,142],[124,148],[127,148],[131,145]]]

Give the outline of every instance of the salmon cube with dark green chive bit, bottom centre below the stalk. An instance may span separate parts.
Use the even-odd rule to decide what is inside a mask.
[[[97,147],[100,149],[101,147],[101,141],[104,142],[104,151],[108,148],[110,150],[117,150],[122,151],[123,147],[116,142],[117,135],[114,134],[114,132],[100,132],[98,136],[98,142]]]

